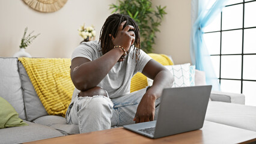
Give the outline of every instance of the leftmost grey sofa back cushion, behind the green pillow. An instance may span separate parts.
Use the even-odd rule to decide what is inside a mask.
[[[0,97],[26,119],[17,58],[0,58]]]

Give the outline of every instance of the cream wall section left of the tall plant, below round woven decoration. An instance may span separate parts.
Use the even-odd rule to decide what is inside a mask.
[[[69,0],[54,13],[40,13],[22,0],[0,0],[0,56],[13,56],[19,50],[23,31],[28,26],[29,32],[41,33],[26,49],[33,57],[70,58],[82,41],[79,26],[93,24],[99,38],[112,2],[115,0]]]

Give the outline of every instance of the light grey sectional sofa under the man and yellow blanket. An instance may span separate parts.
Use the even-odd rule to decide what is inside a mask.
[[[59,61],[52,59],[55,60]],[[0,58],[0,70],[0,97],[14,108],[18,119],[25,122],[25,126],[1,128],[0,143],[31,142],[79,133],[78,125],[68,125],[63,115],[49,115],[38,97],[36,92],[38,89],[34,88],[34,83],[29,79],[24,65],[18,58]],[[59,76],[61,73],[55,75]],[[195,85],[205,85],[203,71],[195,70],[194,79]],[[132,83],[136,83],[135,81],[136,79],[133,79]],[[145,77],[141,81],[147,83]],[[54,83],[51,84],[54,88]],[[244,104],[243,94],[212,91],[206,121],[256,131],[256,107]],[[4,112],[7,112],[7,108],[1,109],[0,115]],[[2,121],[4,118],[0,120]],[[22,121],[18,123],[23,124]]]

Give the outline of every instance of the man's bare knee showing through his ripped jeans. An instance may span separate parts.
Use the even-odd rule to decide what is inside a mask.
[[[88,89],[87,91],[79,92],[78,97],[93,97],[95,95],[103,95],[105,97],[108,97],[108,94],[106,94],[106,91],[103,88],[100,88],[99,86]]]

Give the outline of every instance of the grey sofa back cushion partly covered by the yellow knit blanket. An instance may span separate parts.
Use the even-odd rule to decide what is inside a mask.
[[[41,103],[34,86],[26,73],[25,68],[19,61],[20,79],[22,81],[23,97],[26,107],[26,117],[28,121],[33,121],[40,116],[48,115]]]

